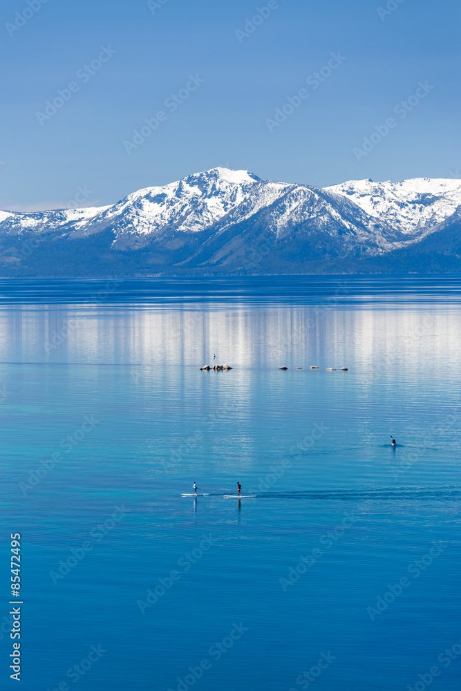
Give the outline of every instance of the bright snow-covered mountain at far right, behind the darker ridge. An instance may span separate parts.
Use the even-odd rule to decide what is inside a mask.
[[[349,180],[324,189],[346,196],[370,216],[408,235],[426,235],[461,205],[461,180],[450,178]]]

